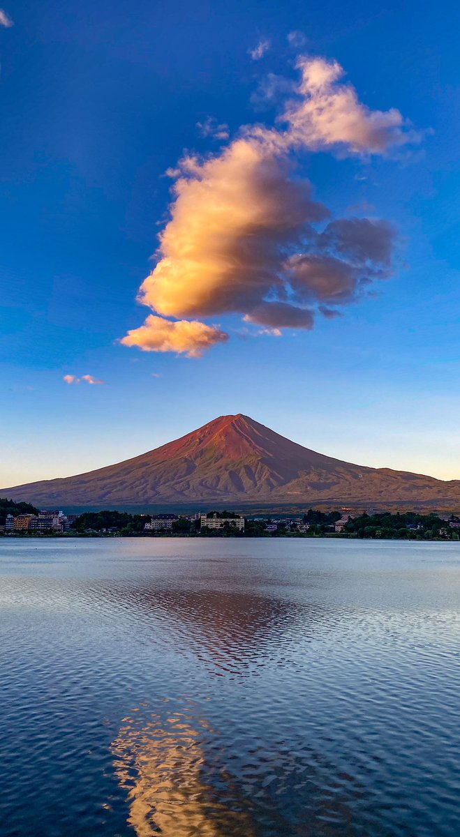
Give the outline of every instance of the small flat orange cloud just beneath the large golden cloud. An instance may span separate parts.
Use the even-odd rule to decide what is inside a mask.
[[[151,314],[143,326],[128,331],[121,343],[137,346],[142,352],[176,352],[186,357],[201,357],[206,349],[228,339],[225,331],[216,326],[206,326],[204,322],[171,322]]]

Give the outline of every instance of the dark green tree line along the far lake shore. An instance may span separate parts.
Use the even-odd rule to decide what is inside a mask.
[[[7,515],[37,514],[25,502],[0,498],[0,526]],[[374,514],[347,514],[344,510],[309,509],[305,514],[288,516],[252,516],[244,528],[235,526],[240,515],[235,511],[207,512],[222,520],[220,528],[205,526],[199,516],[129,514],[126,511],[86,511],[70,525],[69,531],[5,532],[8,537],[335,537],[372,540],[458,541],[460,517],[437,512],[382,511]],[[146,524],[156,521],[156,528]]]

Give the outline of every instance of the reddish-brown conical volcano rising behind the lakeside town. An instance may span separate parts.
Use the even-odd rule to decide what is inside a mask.
[[[335,460],[244,416],[220,416],[132,460],[86,474],[0,490],[35,506],[460,507],[460,480]]]

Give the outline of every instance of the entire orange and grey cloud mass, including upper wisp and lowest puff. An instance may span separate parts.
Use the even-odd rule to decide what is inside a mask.
[[[391,274],[395,229],[375,218],[331,220],[294,172],[295,156],[382,155],[420,137],[398,110],[360,103],[339,83],[337,62],[300,58],[297,68],[283,128],[246,126],[220,153],[183,157],[169,172],[171,217],[138,295],[155,315],[128,332],[125,346],[200,357],[228,336],[195,318],[229,313],[271,329],[311,329],[315,310],[333,316],[324,303],[349,304]]]

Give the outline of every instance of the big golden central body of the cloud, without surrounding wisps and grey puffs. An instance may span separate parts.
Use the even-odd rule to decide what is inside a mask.
[[[247,139],[203,163],[187,158],[181,172],[142,304],[163,316],[214,316],[250,311],[282,290],[284,245],[328,217],[310,183],[290,179],[287,162]]]

